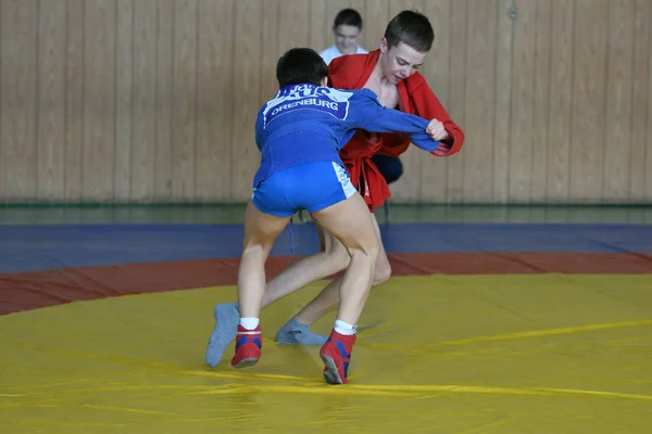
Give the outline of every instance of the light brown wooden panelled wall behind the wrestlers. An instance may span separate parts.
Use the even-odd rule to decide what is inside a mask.
[[[403,9],[466,132],[410,149],[396,202],[652,201],[652,0],[0,0],[0,199],[241,202],[278,58]]]

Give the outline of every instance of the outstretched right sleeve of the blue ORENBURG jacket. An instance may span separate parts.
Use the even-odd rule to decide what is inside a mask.
[[[426,132],[428,120],[384,107],[375,97],[367,93],[361,93],[352,100],[349,110],[347,119],[349,128],[372,132],[404,132],[410,135],[411,141],[416,146],[430,153],[434,153],[440,144]]]

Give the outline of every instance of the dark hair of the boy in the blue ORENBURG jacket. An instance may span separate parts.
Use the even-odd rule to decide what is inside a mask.
[[[276,64],[276,79],[280,88],[302,82],[319,86],[327,76],[328,66],[324,59],[310,48],[288,50]]]

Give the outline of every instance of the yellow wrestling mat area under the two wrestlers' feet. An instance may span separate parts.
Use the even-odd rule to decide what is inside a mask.
[[[263,312],[246,370],[230,348],[203,365],[233,286],[2,316],[0,432],[652,432],[649,275],[393,278],[369,297],[343,386],[324,383],[318,347],[271,340],[319,288]]]

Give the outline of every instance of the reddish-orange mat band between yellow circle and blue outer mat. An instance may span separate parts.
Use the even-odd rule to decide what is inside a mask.
[[[275,256],[268,278],[300,256]],[[652,273],[644,254],[390,254],[393,276],[515,273]],[[0,315],[112,296],[236,284],[239,259],[64,268],[0,275]]]

